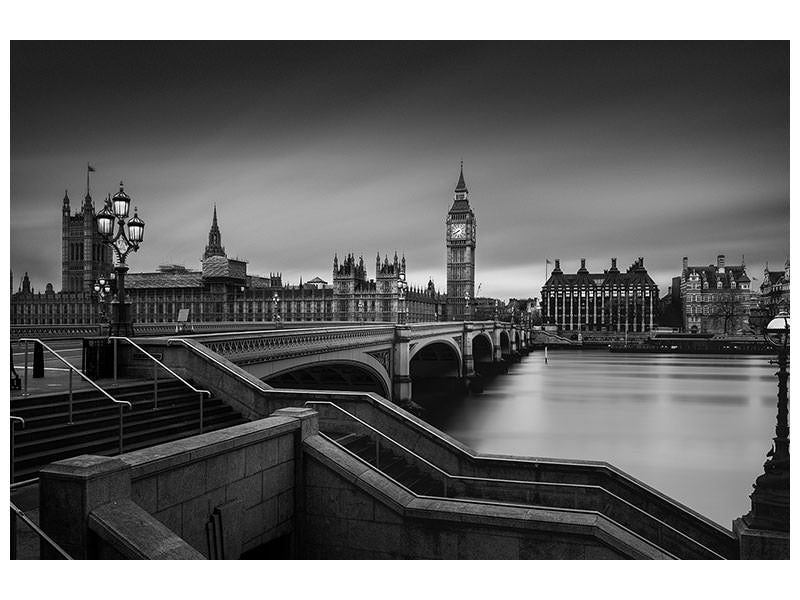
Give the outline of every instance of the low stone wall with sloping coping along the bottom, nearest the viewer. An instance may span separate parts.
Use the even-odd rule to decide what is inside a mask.
[[[597,514],[414,496],[321,436],[304,464],[304,558],[667,557]]]

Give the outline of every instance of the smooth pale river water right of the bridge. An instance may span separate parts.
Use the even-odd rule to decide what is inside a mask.
[[[769,358],[537,351],[427,418],[481,453],[611,463],[730,529],[775,432]]]

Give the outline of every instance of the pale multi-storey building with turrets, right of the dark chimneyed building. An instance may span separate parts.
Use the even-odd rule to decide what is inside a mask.
[[[680,296],[687,333],[735,335],[750,331],[755,302],[744,264],[726,266],[725,255],[720,254],[716,265],[689,266],[684,256]]]

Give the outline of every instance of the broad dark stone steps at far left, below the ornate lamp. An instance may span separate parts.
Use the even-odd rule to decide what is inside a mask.
[[[157,409],[152,382],[120,384],[107,391],[133,405],[122,409],[124,452],[200,433],[199,395],[180,382],[159,382]],[[119,453],[119,405],[95,390],[75,392],[70,424],[68,400],[67,394],[11,399],[10,413],[25,419],[24,429],[15,427],[14,481],[35,477],[41,467],[64,458]],[[203,431],[245,421],[220,399],[204,399]]]

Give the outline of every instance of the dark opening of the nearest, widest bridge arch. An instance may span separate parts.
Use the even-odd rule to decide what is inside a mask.
[[[374,392],[391,398],[388,373],[356,360],[333,359],[292,366],[261,380],[275,388]]]

